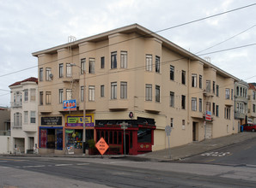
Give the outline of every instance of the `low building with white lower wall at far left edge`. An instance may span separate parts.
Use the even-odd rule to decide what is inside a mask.
[[[8,154],[10,146],[9,108],[0,107],[0,154]]]

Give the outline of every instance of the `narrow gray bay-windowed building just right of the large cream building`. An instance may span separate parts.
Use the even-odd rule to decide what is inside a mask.
[[[235,82],[235,119],[239,120],[240,125],[247,122],[248,109],[248,84],[240,80]]]

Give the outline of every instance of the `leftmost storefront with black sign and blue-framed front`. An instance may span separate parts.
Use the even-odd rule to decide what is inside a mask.
[[[41,117],[40,149],[63,150],[62,117]]]

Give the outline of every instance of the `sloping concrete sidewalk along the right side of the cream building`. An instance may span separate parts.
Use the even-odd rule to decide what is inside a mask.
[[[171,148],[170,150],[157,150],[133,157],[137,157],[138,159],[141,158],[141,160],[144,158],[147,161],[155,162],[176,161],[188,156],[195,156],[252,138],[256,138],[255,132],[239,132],[226,137],[205,139],[201,142],[192,142],[190,144]]]

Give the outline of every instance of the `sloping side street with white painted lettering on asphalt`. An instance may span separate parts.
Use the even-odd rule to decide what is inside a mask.
[[[256,138],[192,156],[183,162],[209,163],[256,168]],[[256,179],[256,177],[255,177]]]

